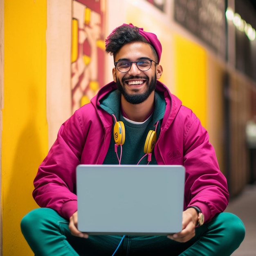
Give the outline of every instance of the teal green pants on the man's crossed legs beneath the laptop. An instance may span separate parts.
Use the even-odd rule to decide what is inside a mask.
[[[69,222],[49,208],[29,212],[21,230],[36,256],[111,256],[122,236],[72,236]],[[226,256],[231,255],[245,237],[243,222],[232,213],[220,213],[211,222],[197,227],[195,237],[186,243],[166,236],[126,236],[115,256]]]

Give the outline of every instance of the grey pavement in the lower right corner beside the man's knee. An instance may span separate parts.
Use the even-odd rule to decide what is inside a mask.
[[[230,200],[227,212],[236,214],[245,225],[245,239],[232,256],[256,256],[256,184],[247,185],[238,197]]]

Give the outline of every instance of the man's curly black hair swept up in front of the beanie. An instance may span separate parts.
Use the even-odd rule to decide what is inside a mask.
[[[119,51],[119,49],[122,46],[124,46],[126,43],[135,42],[135,41],[148,43],[153,51],[156,61],[158,62],[157,52],[155,51],[155,48],[153,47],[153,45],[151,45],[146,40],[146,38],[144,38],[144,36],[139,34],[138,27],[130,27],[129,25],[117,27],[106,38],[106,52],[111,56],[114,56],[115,58],[115,54]]]

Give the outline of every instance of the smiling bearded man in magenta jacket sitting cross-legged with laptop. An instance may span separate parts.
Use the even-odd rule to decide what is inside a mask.
[[[114,81],[61,126],[34,180],[33,196],[45,208],[22,219],[31,249],[47,256],[112,255],[119,245],[119,236],[88,236],[77,229],[78,164],[182,164],[182,231],[167,237],[126,236],[116,255],[231,255],[243,241],[244,225],[223,213],[227,182],[207,131],[157,81],[163,72],[157,36],[124,24],[106,39],[106,52],[114,57]],[[117,124],[125,131],[125,143],[113,136]],[[143,146],[149,130],[157,135],[153,152]]]

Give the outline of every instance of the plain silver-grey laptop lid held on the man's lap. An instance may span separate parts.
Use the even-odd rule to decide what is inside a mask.
[[[167,235],[182,230],[185,168],[79,165],[78,229],[89,235]]]

